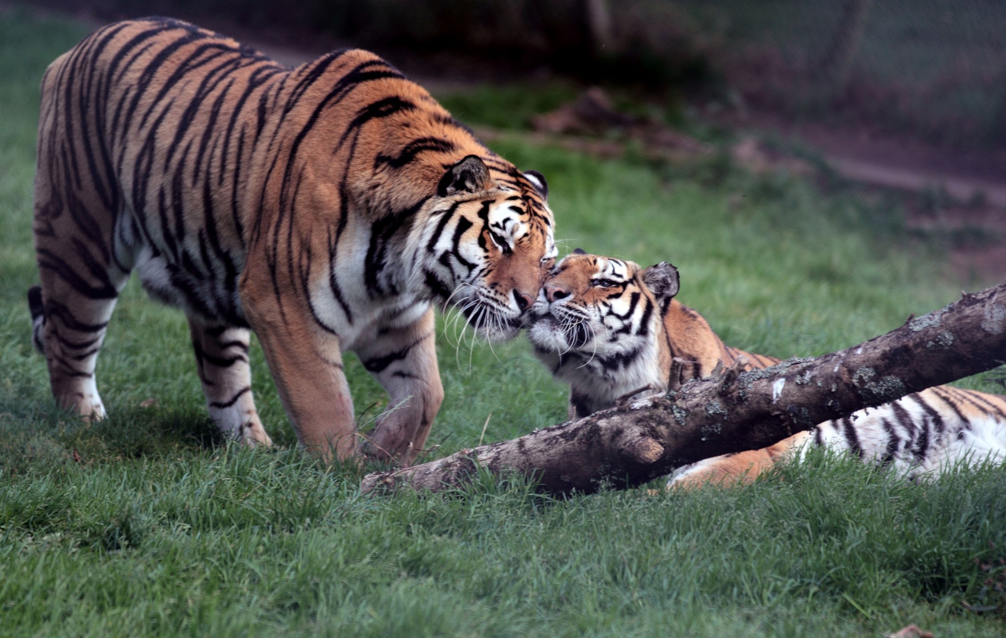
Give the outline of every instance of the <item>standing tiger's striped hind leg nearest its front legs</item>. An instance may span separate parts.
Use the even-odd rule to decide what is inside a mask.
[[[220,433],[248,446],[272,445],[252,397],[250,332],[190,316],[189,333],[209,416]]]

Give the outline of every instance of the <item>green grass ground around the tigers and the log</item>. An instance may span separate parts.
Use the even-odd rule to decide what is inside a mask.
[[[551,502],[488,478],[449,497],[360,497],[358,470],[294,449],[258,348],[257,401],[280,445],[214,445],[184,320],[135,282],[99,365],[112,418],[56,411],[23,301],[36,278],[36,87],[81,35],[0,14],[0,634],[818,636],[916,623],[1002,635],[999,612],[962,606],[1006,578],[983,568],[1006,556],[1001,468],[912,485],[821,457],[743,488],[659,497]],[[459,110],[498,119],[493,103],[487,89]],[[738,347],[832,351],[959,294],[938,255],[904,246],[882,200],[716,162],[671,172],[497,146],[548,176],[569,249],[673,261],[681,298]],[[563,388],[522,340],[456,347],[442,332],[438,453],[477,443],[490,414],[487,440],[562,419]],[[365,422],[383,399],[350,360]],[[996,596],[985,602],[1006,604]]]

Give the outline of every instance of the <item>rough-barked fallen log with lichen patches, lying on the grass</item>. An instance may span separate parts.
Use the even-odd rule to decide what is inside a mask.
[[[759,449],[864,407],[1006,362],[1006,281],[859,346],[691,381],[658,397],[440,460],[368,474],[364,492],[441,490],[478,467],[533,475],[551,494],[626,488],[703,458]]]

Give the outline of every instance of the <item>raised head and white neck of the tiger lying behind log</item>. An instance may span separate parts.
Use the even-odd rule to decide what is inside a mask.
[[[577,414],[666,381],[662,322],[677,291],[669,263],[641,268],[578,248],[549,272],[524,324],[539,359],[572,385]]]

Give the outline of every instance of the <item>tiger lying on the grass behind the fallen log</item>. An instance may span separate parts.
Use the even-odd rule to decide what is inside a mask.
[[[685,362],[673,366],[680,381],[708,376],[739,357],[748,368],[779,362],[724,345],[701,314],[673,298],[677,291],[677,269],[666,262],[644,269],[577,249],[555,266],[528,312],[527,334],[552,374],[570,384],[570,418],[612,407],[639,388],[666,389],[674,360]],[[959,460],[1002,461],[1006,397],[930,388],[761,450],[679,468],[668,486],[750,481],[807,443],[849,450],[908,477],[939,474]]]

